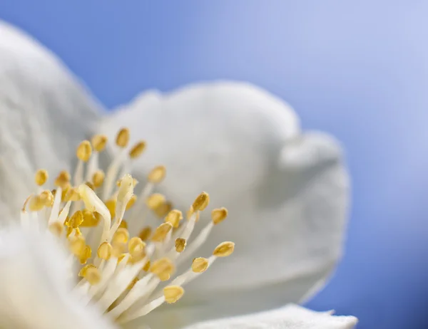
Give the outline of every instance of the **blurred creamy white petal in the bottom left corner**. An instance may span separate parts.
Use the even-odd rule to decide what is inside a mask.
[[[71,293],[66,255],[51,234],[0,231],[0,327],[113,329]]]

